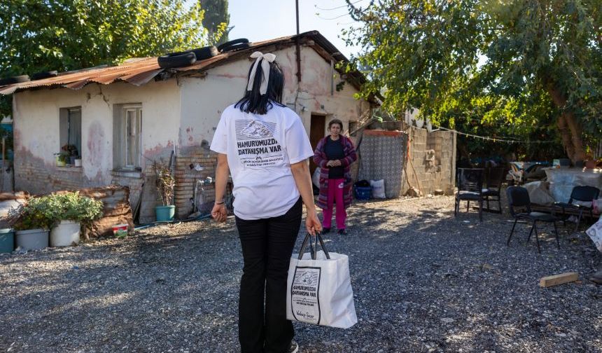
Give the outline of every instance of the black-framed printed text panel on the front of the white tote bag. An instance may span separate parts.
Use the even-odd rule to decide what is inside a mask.
[[[290,286],[290,310],[297,321],[320,324],[321,271],[318,267],[295,267]]]

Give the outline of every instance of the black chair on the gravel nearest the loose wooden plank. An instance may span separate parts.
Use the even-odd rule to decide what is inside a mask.
[[[542,212],[532,212],[531,211],[531,199],[528,197],[528,191],[526,188],[521,186],[510,186],[506,189],[506,195],[508,197],[508,209],[510,209],[510,214],[514,217],[514,224],[512,225],[512,230],[510,230],[510,236],[506,242],[506,246],[510,246],[510,239],[512,239],[512,234],[514,233],[514,227],[517,225],[517,221],[519,219],[525,221],[531,221],[533,226],[531,226],[531,231],[528,233],[527,242],[531,239],[531,234],[533,230],[535,230],[535,241],[537,242],[537,251],[541,253],[539,247],[539,236],[537,234],[537,222],[545,222],[545,223],[553,223],[554,224],[554,233],[556,233],[556,246],[560,249],[560,240],[558,238],[558,229],[556,228],[556,221],[559,219],[552,214],[546,214]],[[520,208],[524,207],[525,212],[517,212],[514,207]]]

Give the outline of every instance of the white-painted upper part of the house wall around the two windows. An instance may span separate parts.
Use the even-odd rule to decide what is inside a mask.
[[[113,169],[113,104],[142,104],[142,150],[152,158],[178,137],[179,93],[176,80],[153,81],[141,87],[113,83],[87,85],[81,90],[18,92],[13,100],[17,158],[19,153],[29,152],[46,165],[55,165],[53,153],[61,147],[59,109],[81,106],[83,173],[87,179],[109,184]]]

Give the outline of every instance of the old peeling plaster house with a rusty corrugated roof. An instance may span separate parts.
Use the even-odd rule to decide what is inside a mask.
[[[63,73],[0,87],[0,94],[13,95],[15,189],[130,186],[130,202],[140,205],[145,223],[159,202],[151,165],[174,153],[176,216],[185,218],[197,181],[214,176],[216,156],[208,146],[222,109],[244,93],[255,50],[276,54],[284,103],[302,118],[314,146],[331,118],[347,130],[370,112],[373,103],[353,98],[363,76],[339,72],[335,64],[346,58],[318,32],[256,42],[177,69],[161,69],[148,57]],[[55,153],[65,144],[78,148],[80,167],[57,167]],[[211,188],[204,192],[212,198]]]

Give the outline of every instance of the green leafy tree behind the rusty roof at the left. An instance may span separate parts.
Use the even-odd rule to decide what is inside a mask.
[[[0,1],[0,76],[116,64],[207,43],[200,1]],[[10,114],[10,97],[0,113]]]

